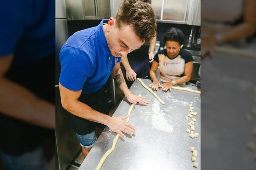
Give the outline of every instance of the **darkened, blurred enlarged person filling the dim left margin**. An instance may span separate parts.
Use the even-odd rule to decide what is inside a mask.
[[[6,169],[45,169],[55,151],[55,2],[3,1],[0,15],[0,156]]]

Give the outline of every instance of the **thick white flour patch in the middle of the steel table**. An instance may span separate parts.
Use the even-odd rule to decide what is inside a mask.
[[[166,122],[166,119],[164,118],[165,114],[161,112],[160,110],[160,103],[158,100],[154,99],[154,104],[152,105],[153,110],[153,117],[152,117],[152,124],[153,128],[166,131],[166,132],[172,132],[172,125],[169,125]]]

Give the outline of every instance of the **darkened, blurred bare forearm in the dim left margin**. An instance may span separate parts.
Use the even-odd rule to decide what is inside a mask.
[[[21,121],[55,129],[55,106],[39,99],[26,88],[0,79],[0,112]]]

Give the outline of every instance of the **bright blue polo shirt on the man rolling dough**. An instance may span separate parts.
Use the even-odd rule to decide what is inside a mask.
[[[59,82],[69,90],[82,94],[99,90],[107,82],[121,57],[111,55],[102,20],[96,27],[75,32],[62,46],[59,60],[61,73]]]

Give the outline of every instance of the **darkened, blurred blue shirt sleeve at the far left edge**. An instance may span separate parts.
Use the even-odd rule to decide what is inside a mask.
[[[23,12],[19,4],[12,1],[3,1],[0,5],[0,57],[14,53],[17,41],[24,30]],[[12,4],[14,3],[14,4]]]

